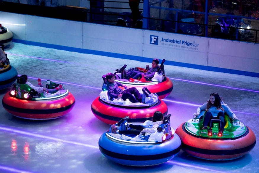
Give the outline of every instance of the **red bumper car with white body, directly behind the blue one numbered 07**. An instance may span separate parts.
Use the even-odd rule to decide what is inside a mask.
[[[128,122],[144,122],[152,120],[153,114],[160,111],[167,115],[168,108],[164,101],[156,94],[151,93],[147,88],[142,88],[142,103],[132,103],[128,99],[110,99],[108,95],[105,75],[102,76],[104,84],[100,96],[91,104],[91,110],[99,120],[107,124],[115,124],[123,117],[129,116]]]

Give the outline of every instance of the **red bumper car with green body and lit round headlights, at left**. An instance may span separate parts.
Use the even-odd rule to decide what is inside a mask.
[[[46,81],[46,88],[55,88],[59,84]],[[13,89],[2,100],[4,109],[19,118],[31,120],[48,120],[59,118],[75,105],[74,96],[67,90],[56,93],[38,93],[25,84],[22,77],[17,77]]]

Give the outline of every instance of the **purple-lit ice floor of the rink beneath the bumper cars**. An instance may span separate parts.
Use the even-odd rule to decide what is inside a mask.
[[[12,43],[6,48],[18,75],[27,74],[36,85],[37,78],[63,83],[75,97],[74,108],[54,120],[25,120],[9,114],[1,105],[0,172],[81,173],[81,172],[259,172],[258,143],[243,157],[231,161],[206,161],[181,151],[172,160],[157,166],[131,167],[113,163],[98,148],[99,137],[109,125],[91,112],[99,96],[103,74],[139,62],[106,56],[81,54]],[[174,84],[165,99],[171,126],[176,129],[192,118],[210,93],[218,92],[237,117],[259,138],[259,78],[224,74],[166,65],[166,76]],[[0,91],[0,99],[10,90]],[[12,149],[12,144],[17,148]]]

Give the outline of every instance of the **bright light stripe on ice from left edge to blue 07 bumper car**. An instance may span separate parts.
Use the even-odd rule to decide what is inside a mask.
[[[27,131],[17,130],[17,129],[14,129],[14,128],[8,128],[8,127],[0,126],[0,130],[14,132],[14,133],[18,133],[18,134],[23,134],[23,135],[27,135],[27,136],[31,136],[31,137],[50,139],[50,140],[54,140],[54,141],[58,141],[58,142],[64,142],[64,143],[69,143],[69,144],[74,144],[74,145],[82,145],[82,146],[85,146],[85,147],[91,147],[91,148],[99,149],[99,147],[96,147],[94,145],[88,145],[88,144],[75,142],[75,141],[68,141],[68,140],[59,139],[59,138],[55,138],[55,137],[48,137],[48,136],[45,136],[45,135],[34,134],[34,133],[27,132]]]

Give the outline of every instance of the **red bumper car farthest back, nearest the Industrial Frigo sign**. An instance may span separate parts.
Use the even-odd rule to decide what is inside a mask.
[[[163,59],[160,67],[151,80],[146,80],[144,77],[140,80],[132,78],[126,79],[125,71],[118,70],[115,72],[115,81],[126,85],[128,88],[136,87],[137,89],[141,89],[143,87],[147,87],[150,92],[156,93],[160,99],[164,99],[173,90],[173,82],[165,77],[164,62],[165,59]],[[136,67],[135,69],[140,72],[147,72],[147,69],[144,68]]]

